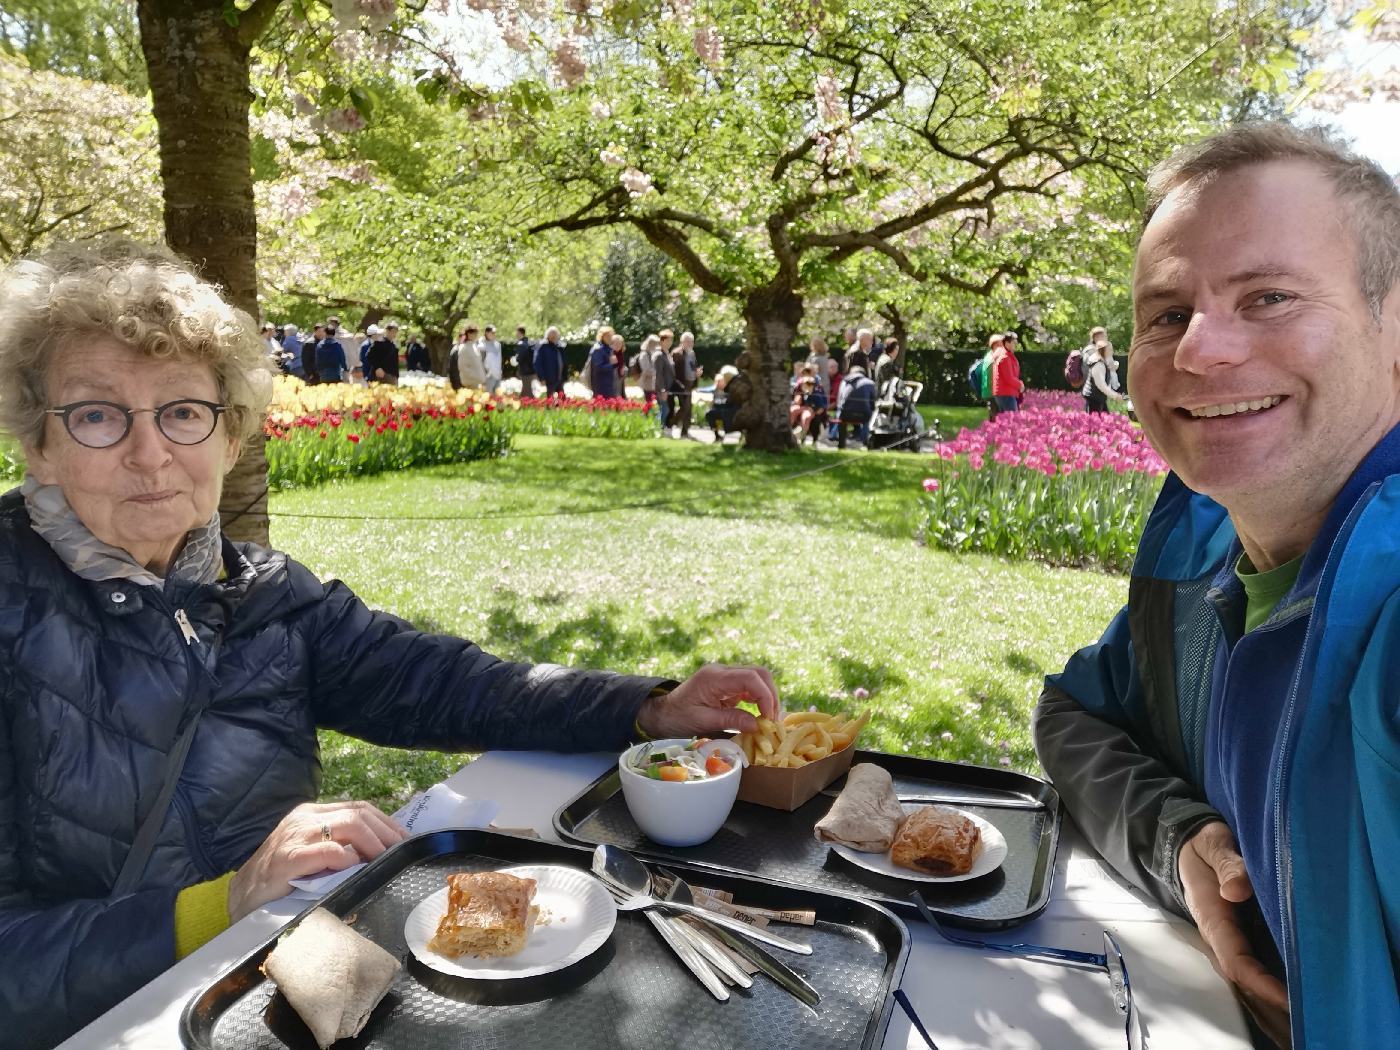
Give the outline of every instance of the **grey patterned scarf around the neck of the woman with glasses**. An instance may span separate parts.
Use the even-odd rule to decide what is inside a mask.
[[[211,584],[223,566],[223,540],[218,532],[218,511],[207,524],[190,529],[171,566],[161,580],[120,547],[113,547],[94,536],[73,512],[63,490],[56,484],[39,484],[32,476],[20,486],[29,524],[43,542],[63,559],[63,564],[84,580],[130,580],[147,587],[162,587],[172,580]]]

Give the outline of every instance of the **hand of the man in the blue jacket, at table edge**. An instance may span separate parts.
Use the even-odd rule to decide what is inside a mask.
[[[1176,864],[1186,907],[1217,972],[1235,987],[1266,1035],[1289,1046],[1288,990],[1254,956],[1235,920],[1235,904],[1254,895],[1235,836],[1222,820],[1212,820],[1183,843]]]

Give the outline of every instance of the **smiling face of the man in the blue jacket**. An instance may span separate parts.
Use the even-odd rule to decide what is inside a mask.
[[[1173,189],[1138,246],[1133,302],[1142,427],[1225,507],[1330,503],[1400,419],[1400,294],[1378,326],[1344,206],[1312,164]]]

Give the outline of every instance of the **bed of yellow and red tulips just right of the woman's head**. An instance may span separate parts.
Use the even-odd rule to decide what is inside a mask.
[[[652,437],[641,402],[489,396],[447,386],[274,379],[263,423],[273,487],[503,455],[511,434]]]

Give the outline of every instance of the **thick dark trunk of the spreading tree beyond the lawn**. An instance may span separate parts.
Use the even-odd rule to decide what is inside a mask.
[[[753,381],[753,396],[736,417],[743,430],[743,447],[764,452],[794,448],[797,442],[788,426],[792,400],[788,357],[802,322],[802,297],[787,287],[760,288],[745,300],[743,322],[749,357],[745,372]]]

